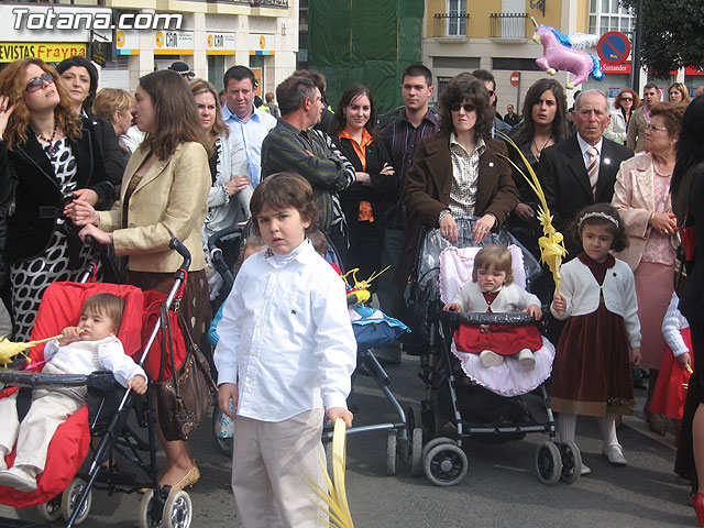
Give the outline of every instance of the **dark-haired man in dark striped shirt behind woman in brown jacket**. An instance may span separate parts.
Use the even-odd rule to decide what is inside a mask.
[[[384,131],[386,148],[392,156],[397,187],[389,201],[385,204],[384,244],[382,246],[382,264],[391,271],[378,278],[377,294],[382,310],[394,314],[396,285],[394,274],[404,243],[404,229],[407,223],[406,210],[402,200],[402,191],[406,173],[413,165],[418,142],[426,135],[435,134],[438,128],[438,116],[428,108],[432,95],[432,74],[422,64],[414,64],[404,70],[402,77],[402,97],[406,109],[404,113],[388,124]],[[400,363],[400,344],[394,343],[376,351],[376,356],[385,364]]]

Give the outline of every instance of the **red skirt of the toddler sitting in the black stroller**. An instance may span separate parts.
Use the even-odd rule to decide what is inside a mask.
[[[482,327],[488,331],[482,331]],[[535,324],[480,326],[462,323],[454,332],[454,344],[460,352],[479,354],[491,350],[499,355],[514,355],[524,349],[540,350],[542,338]]]

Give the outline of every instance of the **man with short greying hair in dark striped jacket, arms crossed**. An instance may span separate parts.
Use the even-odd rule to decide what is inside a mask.
[[[346,253],[346,224],[338,193],[352,185],[352,164],[324,132],[312,129],[324,109],[320,90],[309,77],[293,75],[276,87],[282,117],[262,143],[262,179],[275,173],[301,175],[320,204],[320,230],[342,258]]]

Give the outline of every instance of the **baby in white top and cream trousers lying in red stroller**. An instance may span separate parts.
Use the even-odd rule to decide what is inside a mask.
[[[109,370],[123,386],[139,394],[146,392],[146,374],[124,353],[117,338],[124,300],[112,294],[89,297],[77,327],[67,327],[57,340],[44,348],[45,374],[90,374]],[[0,485],[31,493],[36,475],[44,471],[50,442],[59,425],[86,404],[87,391],[79,388],[37,388],[24,419],[18,417],[18,392],[0,399]],[[16,443],[13,466],[6,455]]]

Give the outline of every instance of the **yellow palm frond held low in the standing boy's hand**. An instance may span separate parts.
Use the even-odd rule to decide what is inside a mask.
[[[329,517],[330,528],[354,528],[352,514],[348,504],[346,491],[344,488],[344,466],[345,466],[345,443],[346,427],[342,418],[334,422],[332,435],[332,480],[328,475],[324,461],[320,461],[322,472],[326,475],[328,490],[323,490],[314,482],[310,476],[305,475],[304,481],[314,491],[321,502],[315,501],[316,506]]]

